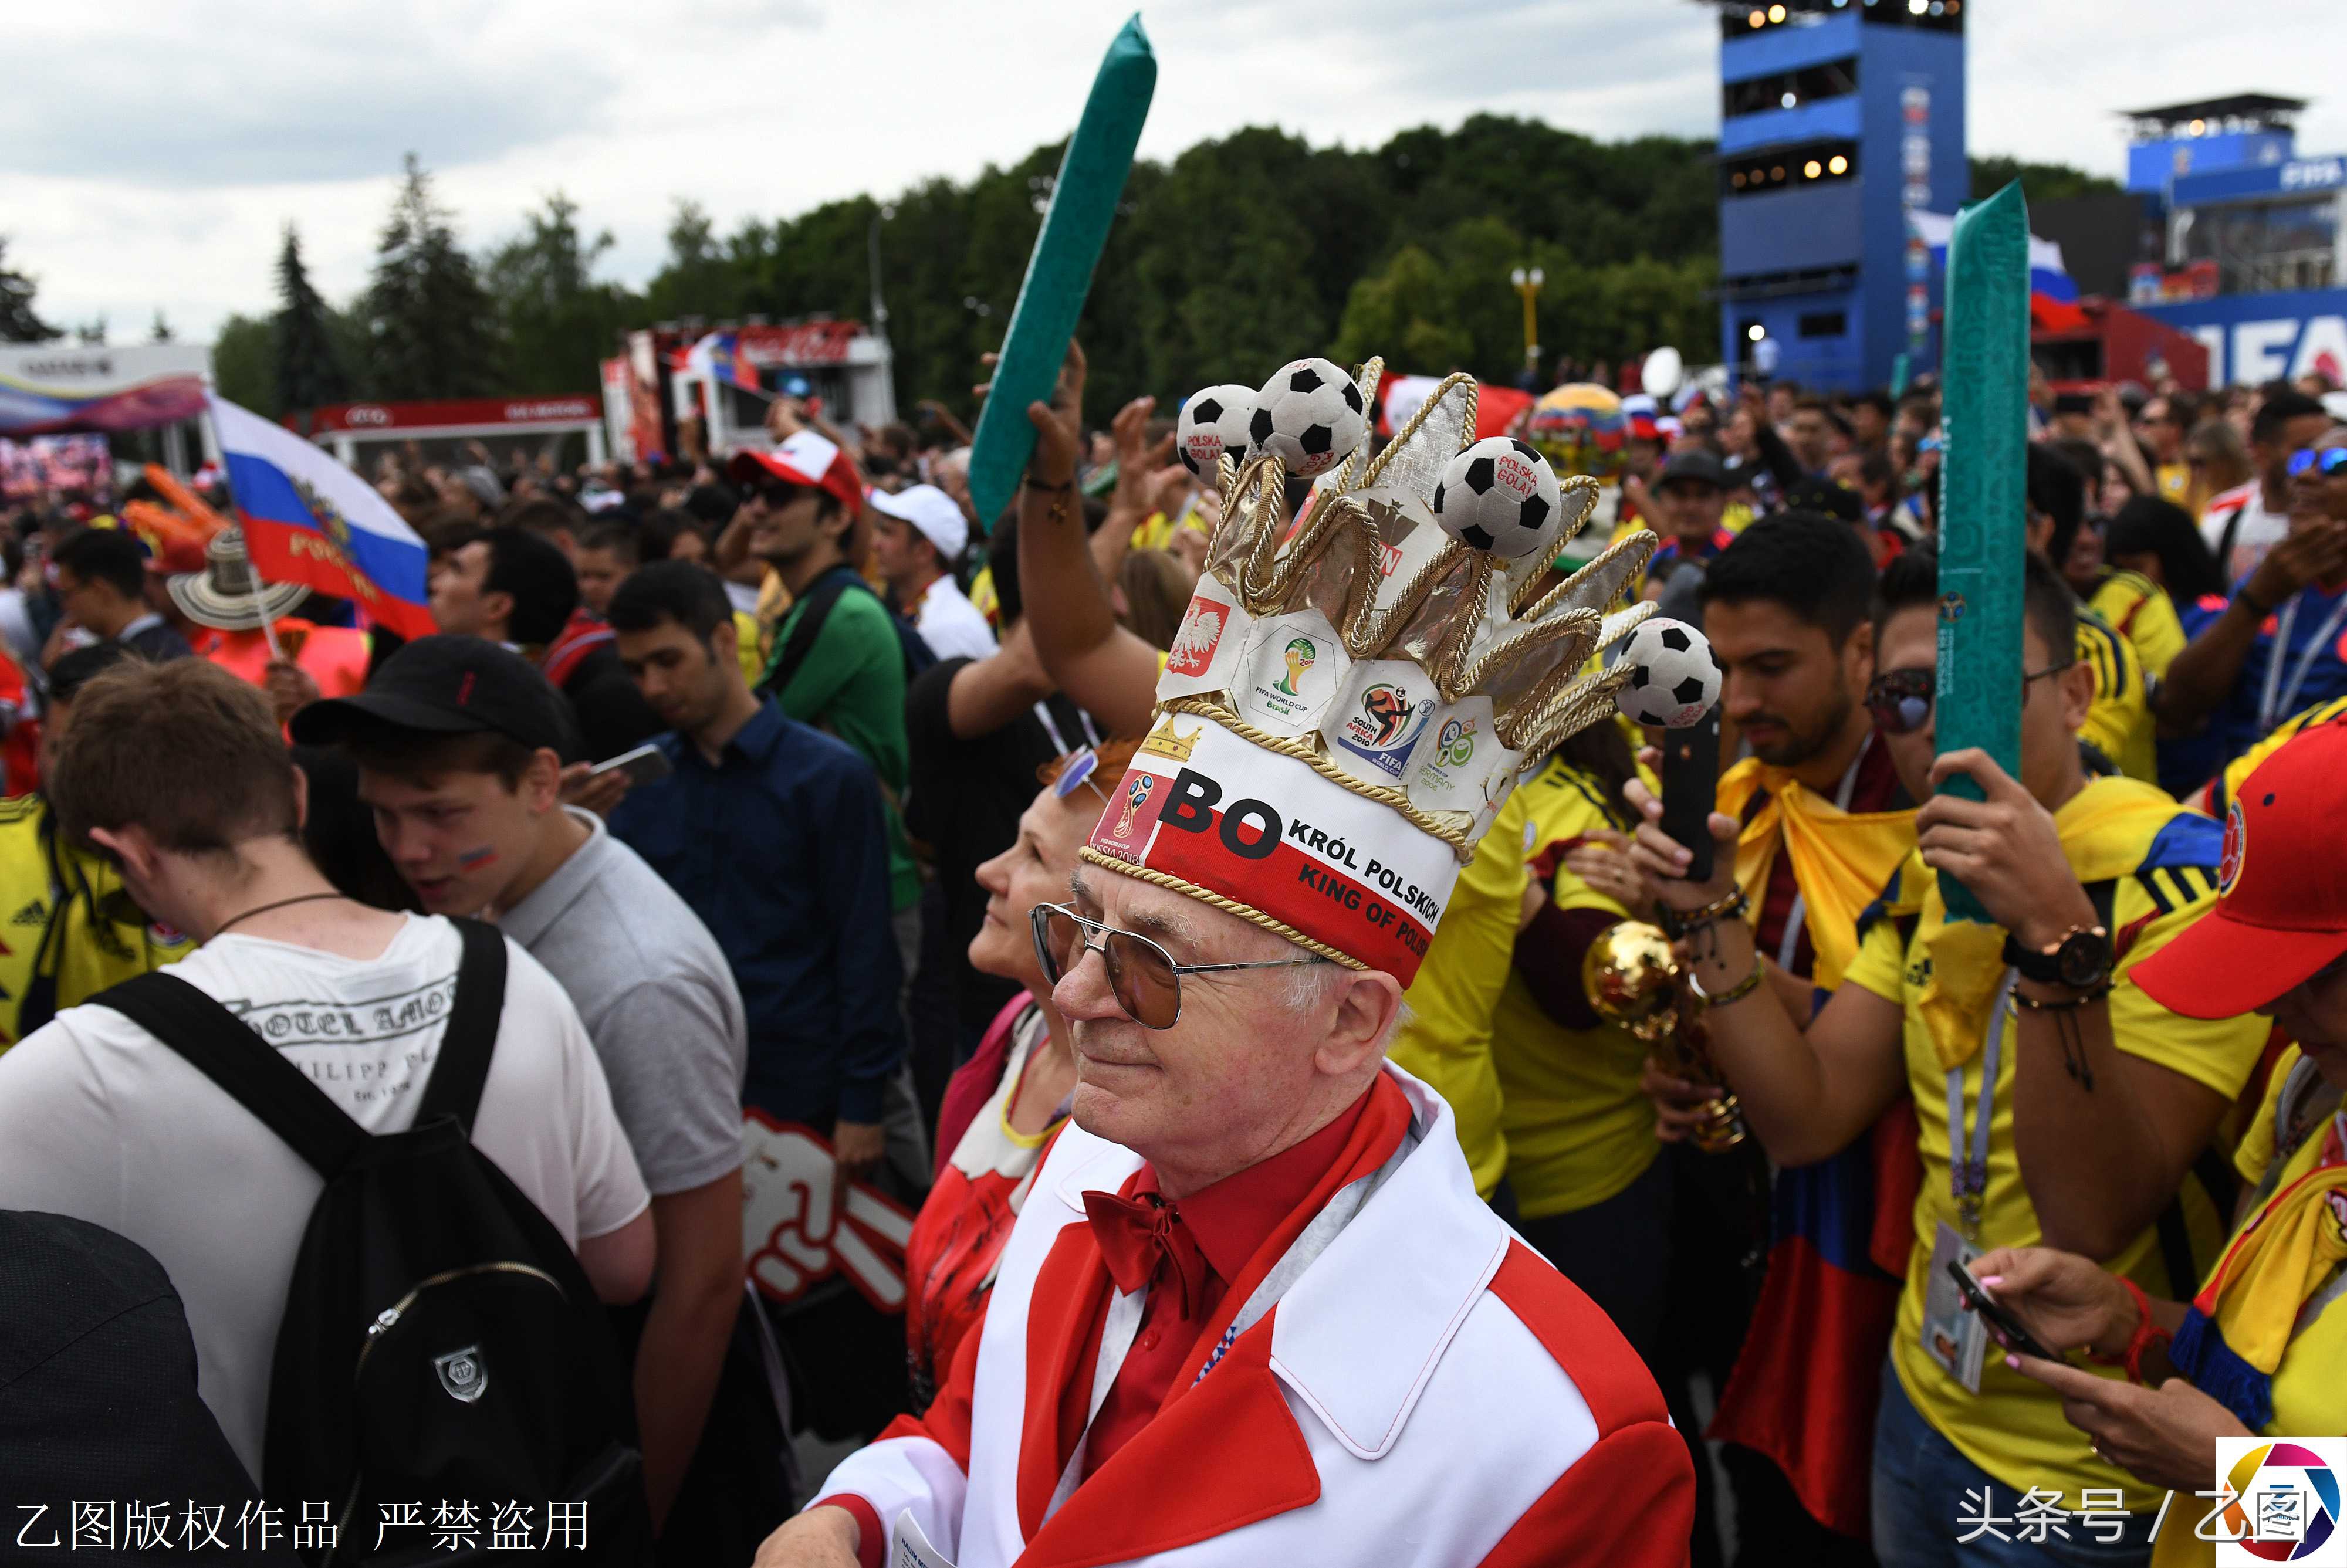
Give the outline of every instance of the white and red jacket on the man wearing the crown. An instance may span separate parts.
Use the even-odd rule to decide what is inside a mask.
[[[936,1404],[817,1493],[868,1505],[852,1509],[866,1561],[871,1523],[911,1509],[955,1568],[1683,1563],[1695,1472],[1655,1380],[1476,1197],[1441,1096],[1385,1070],[1418,1145],[1279,1305],[1051,1512],[1061,1385],[1091,1331],[1061,1303],[1091,1300],[1105,1268],[1084,1192],[1141,1167],[1066,1127]]]

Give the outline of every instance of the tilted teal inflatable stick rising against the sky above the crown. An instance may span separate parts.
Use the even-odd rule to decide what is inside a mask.
[[[1068,357],[1068,338],[1091,293],[1091,270],[1108,244],[1108,225],[1117,216],[1117,197],[1124,195],[1124,176],[1134,167],[1134,146],[1155,92],[1157,56],[1134,12],[1108,45],[1084,117],[1075,122],[1075,136],[1058,162],[1051,207],[1035,235],[1012,329],[995,361],[995,385],[969,441],[969,500],[981,521],[1002,514],[1035,451],[1035,427],[1026,411],[1028,404],[1049,399],[1058,380],[1058,364]]]

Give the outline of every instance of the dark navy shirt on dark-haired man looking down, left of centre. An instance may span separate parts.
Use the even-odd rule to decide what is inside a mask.
[[[742,1101],[828,1131],[878,1122],[904,1061],[880,786],[852,746],[765,702],[716,765],[681,735],[610,831],[718,939],[749,1019]]]

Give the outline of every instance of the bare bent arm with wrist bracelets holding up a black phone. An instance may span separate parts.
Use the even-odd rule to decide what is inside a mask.
[[[1631,779],[1622,793],[1645,819],[1631,859],[1666,908],[1687,915],[1734,894],[1741,836],[1734,817],[1711,812],[1711,880],[1690,883],[1683,876],[1687,852],[1662,831],[1662,800],[1655,791]],[[1889,939],[1889,932],[1878,939]],[[1685,948],[1704,995],[1720,998],[1704,1012],[1711,1061],[1737,1091],[1746,1124],[1777,1164],[1831,1160],[1906,1089],[1899,1002],[1845,979],[1802,1030],[1765,984],[1751,984],[1737,1000],[1725,1000],[1753,981],[1758,965],[1753,927],[1741,915],[1723,913],[1692,930]]]

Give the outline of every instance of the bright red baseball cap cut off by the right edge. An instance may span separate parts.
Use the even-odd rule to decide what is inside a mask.
[[[2265,1007],[2347,953],[2347,723],[2293,737],[2225,812],[2218,901],[2129,979],[2187,1019]]]

